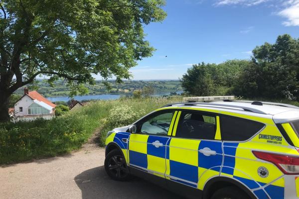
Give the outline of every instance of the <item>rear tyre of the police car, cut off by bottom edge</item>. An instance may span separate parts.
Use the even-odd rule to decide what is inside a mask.
[[[237,187],[225,187],[217,190],[211,199],[250,199],[250,197]]]

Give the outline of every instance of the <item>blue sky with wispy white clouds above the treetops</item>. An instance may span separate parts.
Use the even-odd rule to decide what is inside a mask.
[[[250,59],[278,35],[299,38],[299,0],[167,0],[163,9],[165,20],[144,27],[156,51],[133,80],[177,80],[192,64]]]

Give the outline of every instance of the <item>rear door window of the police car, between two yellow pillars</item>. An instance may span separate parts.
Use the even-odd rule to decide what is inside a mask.
[[[216,116],[197,111],[183,111],[176,129],[176,137],[214,140]]]

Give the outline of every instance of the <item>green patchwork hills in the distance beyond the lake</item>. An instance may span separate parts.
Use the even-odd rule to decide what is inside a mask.
[[[182,91],[181,83],[178,80],[125,80],[122,84],[116,84],[114,80],[108,81],[111,90],[107,90],[102,81],[96,81],[94,86],[86,85],[88,95],[100,94],[131,94],[135,90],[143,89],[145,86],[151,86],[155,92],[177,92]],[[44,97],[68,96],[69,90],[63,81],[55,82],[55,87],[50,87],[42,79],[36,80],[37,91]],[[23,88],[18,89],[16,94],[23,94]]]

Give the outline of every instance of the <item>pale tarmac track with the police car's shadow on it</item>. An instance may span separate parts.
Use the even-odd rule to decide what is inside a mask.
[[[144,180],[111,180],[94,138],[70,155],[0,167],[0,199],[179,199]]]

